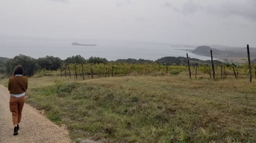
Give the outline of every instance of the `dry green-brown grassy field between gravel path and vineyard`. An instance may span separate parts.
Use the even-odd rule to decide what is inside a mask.
[[[41,77],[29,79],[26,102],[66,124],[73,140],[255,143],[255,87],[255,79],[189,79],[184,73],[85,81]]]

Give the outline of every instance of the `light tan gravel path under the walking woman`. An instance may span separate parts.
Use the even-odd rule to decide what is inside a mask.
[[[9,92],[0,85],[0,143],[71,143],[69,132],[49,121],[40,111],[24,104],[19,134],[13,136]]]

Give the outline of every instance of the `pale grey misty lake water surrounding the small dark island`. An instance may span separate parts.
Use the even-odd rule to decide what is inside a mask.
[[[97,46],[72,46],[72,42],[80,44],[97,44]],[[0,39],[0,57],[12,58],[23,54],[33,58],[52,55],[65,59],[72,55],[81,55],[84,58],[103,57],[108,60],[117,59],[145,59],[157,60],[162,57],[186,57],[210,60],[210,57],[192,54],[187,51],[175,49],[189,49],[186,47],[171,47],[171,44],[151,44],[148,42],[127,42],[118,40],[99,39]]]

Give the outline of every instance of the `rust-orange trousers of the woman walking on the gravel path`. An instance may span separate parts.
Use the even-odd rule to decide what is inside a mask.
[[[13,125],[21,122],[21,112],[25,102],[25,95],[22,97],[10,96],[10,111],[12,112]]]

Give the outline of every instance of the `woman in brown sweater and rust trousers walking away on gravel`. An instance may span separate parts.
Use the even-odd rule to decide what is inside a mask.
[[[21,112],[25,102],[25,92],[28,88],[28,79],[23,76],[22,66],[16,66],[13,71],[13,77],[9,78],[8,90],[10,91],[10,111],[12,112],[12,121],[14,125],[13,135],[18,134],[19,123],[21,122]]]

